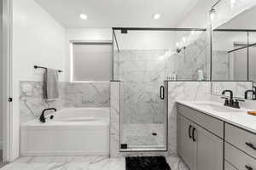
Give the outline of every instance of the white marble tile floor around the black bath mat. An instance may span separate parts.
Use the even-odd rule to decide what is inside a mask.
[[[189,170],[177,156],[166,161],[172,170]],[[125,170],[125,158],[104,156],[26,156],[0,170]]]

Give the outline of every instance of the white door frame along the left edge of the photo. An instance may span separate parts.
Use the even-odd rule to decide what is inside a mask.
[[[3,0],[3,162],[12,161],[12,0]]]

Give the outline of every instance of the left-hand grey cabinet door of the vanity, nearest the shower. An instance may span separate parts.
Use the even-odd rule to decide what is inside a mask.
[[[193,123],[183,116],[177,117],[177,152],[190,170],[196,170],[196,144],[189,138],[189,126],[192,131]]]

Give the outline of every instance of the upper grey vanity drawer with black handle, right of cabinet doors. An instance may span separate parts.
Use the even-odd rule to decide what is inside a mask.
[[[225,141],[256,159],[256,134],[225,123]]]

